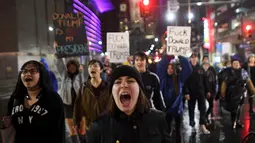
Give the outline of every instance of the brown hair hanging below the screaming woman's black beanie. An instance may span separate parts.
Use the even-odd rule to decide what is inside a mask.
[[[110,91],[111,93],[111,91]],[[150,111],[150,103],[147,100],[145,94],[142,91],[142,88],[139,88],[139,95],[138,95],[138,100],[136,103],[135,111],[139,112],[140,114],[146,114]],[[118,110],[118,107],[113,99],[113,95],[111,93],[111,99],[109,101],[109,106],[108,106],[108,113],[113,114]]]

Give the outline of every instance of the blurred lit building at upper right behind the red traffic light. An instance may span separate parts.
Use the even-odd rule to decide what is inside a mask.
[[[232,3],[216,7],[214,26],[217,53],[221,55],[238,53],[244,61],[249,53],[255,52],[254,9],[254,0],[243,0],[243,4]],[[252,26],[252,37],[246,35],[247,25]]]

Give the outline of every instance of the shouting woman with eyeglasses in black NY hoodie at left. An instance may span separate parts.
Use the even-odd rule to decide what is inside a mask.
[[[28,61],[21,67],[4,119],[5,128],[16,130],[15,143],[64,142],[63,102],[41,63]]]

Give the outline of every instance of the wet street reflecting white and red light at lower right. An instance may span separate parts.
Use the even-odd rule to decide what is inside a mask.
[[[220,109],[219,101],[214,101],[214,114],[216,115],[211,119],[211,124],[208,129],[211,131],[210,135],[199,133],[199,111],[196,107],[195,122],[196,133],[192,132],[189,126],[188,106],[185,104],[184,120],[183,120],[183,137],[184,143],[242,143],[243,138],[250,132],[255,131],[255,116],[250,117],[249,104],[245,102],[242,107],[241,121],[244,124],[243,129],[234,131],[231,128],[230,113],[224,109]],[[173,141],[175,141],[173,133]],[[249,138],[246,143],[255,143],[255,136]]]

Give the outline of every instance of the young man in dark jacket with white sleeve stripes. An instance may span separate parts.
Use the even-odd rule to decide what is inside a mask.
[[[164,111],[165,104],[162,93],[160,91],[160,81],[155,73],[146,69],[147,55],[143,52],[135,54],[135,67],[140,72],[145,86],[145,95],[150,101],[151,107]]]

